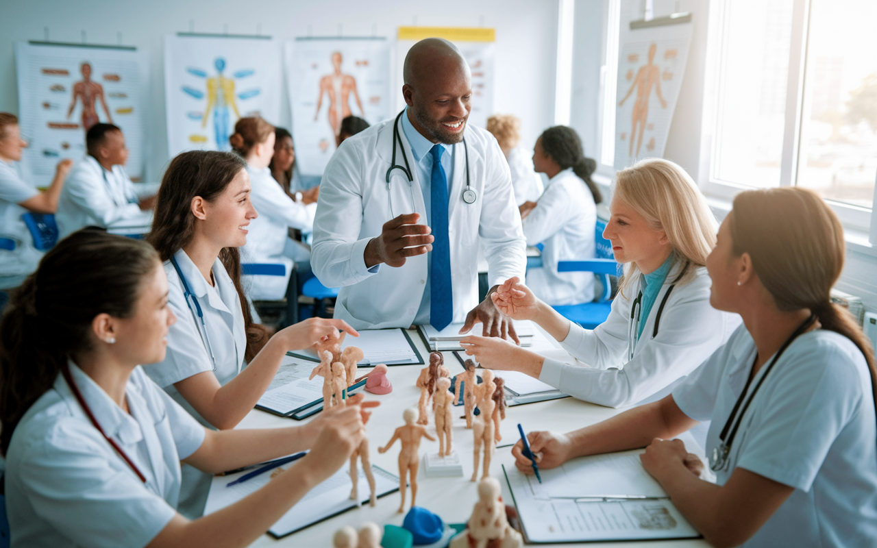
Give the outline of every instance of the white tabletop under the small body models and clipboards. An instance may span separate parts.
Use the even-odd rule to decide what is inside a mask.
[[[476,325],[474,332],[480,331]],[[411,340],[417,345],[424,361],[429,361],[429,350],[424,346],[423,340],[417,335],[417,331],[409,331]],[[556,343],[555,343],[556,344]],[[461,373],[463,368],[452,352],[445,354],[445,365],[451,370],[451,375]],[[404,409],[417,408],[420,398],[420,389],[415,387],[417,375],[425,366],[392,366],[389,367],[389,380],[393,383],[393,391],[388,395],[366,394],[367,400],[381,402],[381,406],[374,408],[374,413],[367,424],[368,439],[371,446],[370,458],[372,464],[380,466],[390,473],[398,475],[397,459],[399,456],[399,443],[384,454],[379,454],[377,448],[385,445],[393,435],[396,427],[403,425],[402,412]],[[370,369],[360,369],[364,374]],[[475,483],[469,481],[473,467],[473,434],[466,430],[466,422],[462,416],[462,407],[454,408],[453,425],[453,449],[460,454],[463,462],[464,477],[461,478],[427,478],[421,465],[417,477],[417,506],[429,509],[438,514],[445,523],[465,523],[472,513],[473,506],[478,499]],[[610,416],[617,415],[619,409],[611,409],[580,402],[574,398],[563,398],[549,402],[529,403],[506,409],[506,418],[500,431],[503,440],[498,445],[513,444],[520,438],[517,433],[517,423],[524,426],[524,431],[551,430],[571,431],[588,424],[598,423]],[[304,421],[303,421],[304,422]],[[303,423],[301,422],[301,423]],[[238,428],[277,428],[295,424],[296,421],[279,416],[270,415],[260,410],[253,409],[239,423]],[[434,437],[435,427],[430,417],[429,429]],[[688,432],[681,437],[688,451],[697,453],[702,459],[703,450],[698,446]],[[421,456],[424,452],[438,451],[439,443],[431,442],[424,438],[420,445]],[[705,461],[705,459],[704,459]],[[511,457],[511,447],[497,447],[494,459],[490,466],[490,474],[500,480],[503,485],[503,501],[512,504],[509,486],[503,477],[502,465],[514,466]],[[479,478],[481,475],[479,474]],[[405,511],[410,508],[410,488],[406,497]],[[275,540],[270,535],[262,535],[251,544],[252,546],[270,546],[281,548],[285,546],[332,546],[332,535],[344,525],[353,525],[359,528],[363,522],[371,521],[383,525],[392,523],[402,526],[404,514],[397,514],[399,508],[399,494],[392,493],[378,499],[377,506],[371,508],[367,505],[360,509],[351,509],[339,516],[332,517],[324,522],[317,523],[307,529],[300,530],[292,535]],[[569,546],[571,544],[539,544],[543,546]],[[668,540],[668,541],[638,541],[638,542],[610,542],[610,543],[582,543],[588,546],[605,546],[607,548],[627,548],[630,546],[649,546],[664,548],[669,546],[685,546],[687,548],[700,548],[709,546],[704,540]]]

